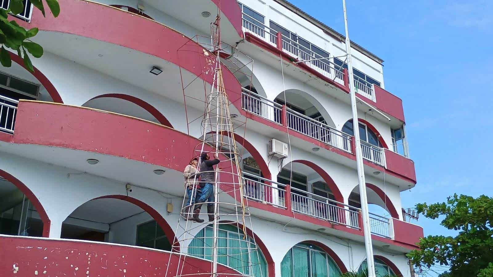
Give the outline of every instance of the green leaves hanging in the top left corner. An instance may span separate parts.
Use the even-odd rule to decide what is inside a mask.
[[[31,53],[33,57],[40,58],[43,55],[43,47],[33,42],[30,38],[35,36],[39,31],[37,28],[26,30],[19,26],[15,20],[8,21],[8,14],[19,14],[24,10],[23,0],[10,0],[9,9],[0,8],[0,63],[4,67],[11,67],[12,61],[10,60],[10,52],[5,49],[10,48],[17,51],[19,57],[23,58],[24,65],[31,71],[34,71],[33,64],[27,52]],[[51,13],[54,17],[60,14],[60,5],[57,0],[45,0]],[[41,10],[43,16],[45,15],[44,5],[42,0],[31,0],[31,3]]]

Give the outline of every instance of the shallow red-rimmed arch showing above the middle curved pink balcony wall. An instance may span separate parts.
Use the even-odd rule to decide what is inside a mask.
[[[130,115],[173,128],[170,121],[154,106],[126,94],[103,94],[92,98],[82,106]]]

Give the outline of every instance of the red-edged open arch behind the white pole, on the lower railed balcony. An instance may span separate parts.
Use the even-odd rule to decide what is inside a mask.
[[[372,234],[390,238],[390,220],[392,217],[399,218],[397,210],[385,192],[373,184],[366,183],[366,196]],[[349,205],[361,208],[358,186],[354,187],[349,196]]]

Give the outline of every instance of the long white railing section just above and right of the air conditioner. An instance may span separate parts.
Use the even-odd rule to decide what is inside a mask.
[[[351,136],[304,114],[286,108],[287,127],[351,153]]]

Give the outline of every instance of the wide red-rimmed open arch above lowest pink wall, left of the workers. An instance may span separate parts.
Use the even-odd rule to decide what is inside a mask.
[[[155,209],[123,195],[96,198],[76,208],[64,220],[61,238],[168,251],[176,241],[173,230]]]

